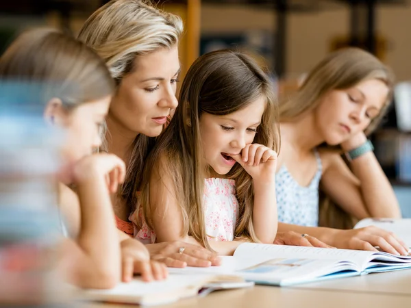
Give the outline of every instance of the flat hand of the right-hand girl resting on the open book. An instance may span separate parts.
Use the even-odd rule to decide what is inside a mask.
[[[358,249],[361,251],[382,251],[393,255],[408,255],[407,245],[392,232],[377,227],[365,227],[352,230],[336,230],[332,245],[338,248]]]

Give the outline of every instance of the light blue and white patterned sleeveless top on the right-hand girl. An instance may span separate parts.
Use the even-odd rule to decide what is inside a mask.
[[[319,183],[323,172],[321,158],[314,150],[317,170],[308,186],[301,186],[283,165],[275,175],[278,221],[317,227],[319,224]]]

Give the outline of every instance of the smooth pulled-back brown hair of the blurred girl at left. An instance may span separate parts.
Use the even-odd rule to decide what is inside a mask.
[[[25,31],[10,44],[0,58],[0,80],[21,91],[38,87],[36,99],[46,104],[57,97],[67,110],[114,92],[107,67],[92,49],[49,28]]]

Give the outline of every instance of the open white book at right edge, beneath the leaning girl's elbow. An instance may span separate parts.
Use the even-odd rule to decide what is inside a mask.
[[[411,218],[365,218],[360,220],[354,229],[375,226],[395,233],[411,248]]]

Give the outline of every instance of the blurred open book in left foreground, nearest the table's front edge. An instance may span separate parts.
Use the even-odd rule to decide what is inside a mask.
[[[242,277],[225,275],[169,274],[164,281],[146,283],[138,278],[129,283],[119,283],[110,290],[80,290],[84,300],[154,306],[174,303],[182,298],[205,296],[216,290],[232,290],[251,287]]]

